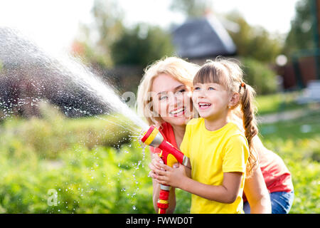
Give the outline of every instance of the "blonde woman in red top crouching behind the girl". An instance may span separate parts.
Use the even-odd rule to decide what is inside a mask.
[[[193,76],[198,68],[196,64],[188,63],[181,58],[164,58],[146,68],[138,88],[139,113],[144,115],[149,125],[156,125],[164,138],[178,148],[186,131],[186,123],[197,116],[191,103],[191,92]],[[236,113],[233,116],[235,122],[239,123]],[[249,204],[251,213],[289,212],[293,200],[293,186],[287,167],[279,156],[263,147],[257,136],[253,139],[253,144],[259,155],[260,165],[257,164],[252,176],[245,180],[245,212],[249,212]],[[159,156],[154,156],[154,152],[159,152],[159,149],[151,148],[151,170],[161,162]],[[154,175],[150,172],[151,177]],[[157,212],[156,203],[160,187],[154,179],[152,182],[154,209]],[[274,202],[271,200],[270,203],[272,193],[268,194],[267,187],[270,192],[280,192]],[[285,197],[281,197],[282,195]],[[173,213],[175,206],[175,190],[171,188],[169,208],[166,212]]]

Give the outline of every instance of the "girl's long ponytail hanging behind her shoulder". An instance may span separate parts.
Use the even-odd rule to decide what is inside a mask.
[[[252,138],[258,133],[257,120],[255,119],[255,105],[253,103],[255,98],[255,90],[251,86],[241,83],[239,87],[239,93],[242,94],[240,103],[243,127],[245,128],[245,138],[247,138],[250,148],[250,156],[248,159],[249,170],[247,171],[249,174],[251,174],[252,168],[255,167],[255,164],[257,163],[257,155],[252,147]]]

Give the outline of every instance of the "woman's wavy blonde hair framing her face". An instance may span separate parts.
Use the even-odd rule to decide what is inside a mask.
[[[155,61],[144,69],[144,76],[137,91],[137,109],[139,115],[143,115],[149,125],[161,123],[161,117],[155,116],[153,108],[150,107],[151,88],[154,78],[164,73],[177,81],[183,83],[186,87],[193,87],[193,77],[200,67],[194,63],[189,63],[178,57],[164,57]]]

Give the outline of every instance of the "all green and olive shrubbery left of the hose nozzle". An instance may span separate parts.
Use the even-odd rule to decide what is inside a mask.
[[[48,107],[42,115],[0,126],[0,212],[154,213],[149,150],[121,142],[129,133],[112,122],[124,118],[68,119]],[[177,197],[176,211],[188,212],[190,195]]]

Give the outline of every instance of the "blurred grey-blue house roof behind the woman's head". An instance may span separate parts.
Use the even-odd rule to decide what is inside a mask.
[[[189,19],[173,32],[176,54],[183,58],[233,56],[235,43],[215,16]]]

